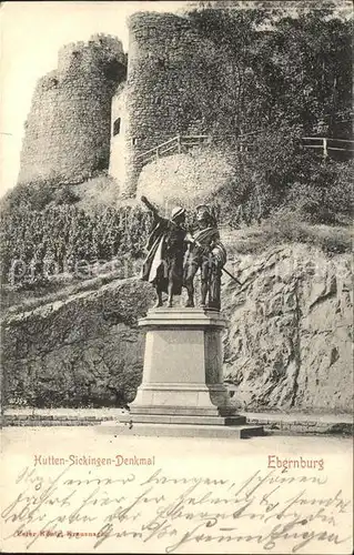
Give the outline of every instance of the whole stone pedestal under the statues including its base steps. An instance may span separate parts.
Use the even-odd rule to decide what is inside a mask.
[[[218,311],[154,309],[139,321],[145,331],[143,379],[125,424],[115,434],[247,436],[261,426],[235,414],[222,376],[222,333]],[[107,431],[112,424],[104,424]]]

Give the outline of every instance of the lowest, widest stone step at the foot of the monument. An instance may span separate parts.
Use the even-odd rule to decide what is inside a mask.
[[[252,426],[250,424],[239,426],[219,426],[203,424],[151,424],[141,423],[113,423],[104,422],[98,430],[102,433],[114,436],[154,436],[154,437],[218,437],[245,440],[252,436],[264,435],[263,426]]]

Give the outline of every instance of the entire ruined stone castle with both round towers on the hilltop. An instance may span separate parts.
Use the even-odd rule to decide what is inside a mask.
[[[112,37],[63,47],[39,80],[19,182],[80,183],[102,170],[133,196],[141,154],[175,135],[237,132],[234,60],[190,17],[139,12],[129,54]]]

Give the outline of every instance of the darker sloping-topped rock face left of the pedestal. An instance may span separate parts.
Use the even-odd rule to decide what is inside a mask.
[[[33,406],[120,405],[141,381],[143,336],[136,316],[151,287],[122,280],[9,316],[2,360],[6,402]]]

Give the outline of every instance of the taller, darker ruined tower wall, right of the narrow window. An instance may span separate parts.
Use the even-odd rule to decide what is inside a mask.
[[[133,195],[139,154],[178,134],[234,133],[234,60],[221,41],[186,17],[135,13],[130,19],[125,193]],[[231,109],[231,111],[230,111]]]

